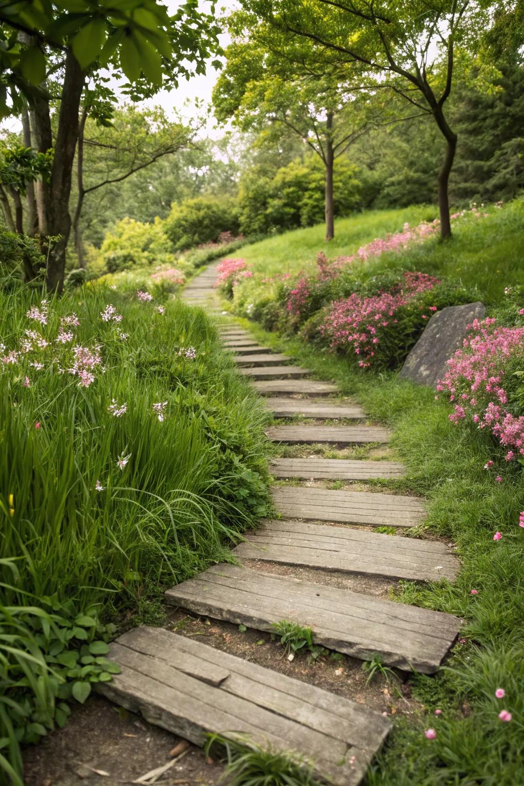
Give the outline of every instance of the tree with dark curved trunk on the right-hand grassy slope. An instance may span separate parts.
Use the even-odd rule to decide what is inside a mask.
[[[338,62],[341,78],[361,64],[376,90],[393,90],[409,105],[432,116],[445,138],[438,174],[442,237],[451,234],[449,174],[456,132],[445,115],[453,89],[457,50],[489,27],[489,5],[473,0],[241,0],[244,9],[293,40],[307,39],[328,69]]]

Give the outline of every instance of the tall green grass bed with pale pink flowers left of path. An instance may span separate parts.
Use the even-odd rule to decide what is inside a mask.
[[[201,310],[93,285],[0,306],[0,771],[21,783],[20,742],[111,678],[101,622],[268,512],[266,414]]]

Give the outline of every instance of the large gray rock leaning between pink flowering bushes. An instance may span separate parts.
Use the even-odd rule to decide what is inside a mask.
[[[467,325],[482,319],[486,309],[482,303],[449,306],[434,314],[420,339],[405,359],[400,376],[421,385],[436,387],[447,371],[446,361],[462,346]]]

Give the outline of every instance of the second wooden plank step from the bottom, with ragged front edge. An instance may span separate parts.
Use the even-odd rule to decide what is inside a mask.
[[[364,660],[379,653],[389,666],[423,674],[438,669],[460,630],[460,620],[450,614],[238,565],[211,567],[165,597],[169,604],[257,630],[292,620],[310,627],[319,645]]]

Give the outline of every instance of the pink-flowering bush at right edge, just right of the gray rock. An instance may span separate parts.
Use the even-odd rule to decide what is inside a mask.
[[[512,461],[516,454],[524,455],[524,416],[506,407],[511,378],[505,374],[508,363],[522,354],[524,327],[495,325],[494,318],[475,319],[463,348],[448,361],[448,371],[438,380],[437,390],[456,402],[449,416],[452,423],[470,420],[491,432],[508,448],[506,461]]]

